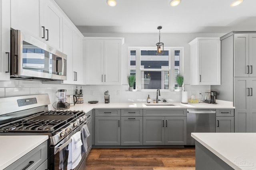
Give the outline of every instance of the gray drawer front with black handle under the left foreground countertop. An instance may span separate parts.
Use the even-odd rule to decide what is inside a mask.
[[[47,141],[31,150],[4,170],[34,170],[47,159]]]

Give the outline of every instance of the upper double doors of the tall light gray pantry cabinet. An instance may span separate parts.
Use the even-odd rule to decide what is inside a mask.
[[[256,33],[234,34],[234,77],[256,77]]]

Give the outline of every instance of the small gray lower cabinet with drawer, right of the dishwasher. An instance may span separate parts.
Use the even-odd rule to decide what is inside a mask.
[[[234,109],[216,109],[216,132],[234,132]]]

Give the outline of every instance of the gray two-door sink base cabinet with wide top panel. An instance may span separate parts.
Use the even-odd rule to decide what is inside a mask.
[[[186,145],[186,109],[144,109],[143,115],[143,145]]]

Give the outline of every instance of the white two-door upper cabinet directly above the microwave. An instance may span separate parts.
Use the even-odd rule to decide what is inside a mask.
[[[11,0],[11,27],[62,51],[62,12],[53,0]]]

